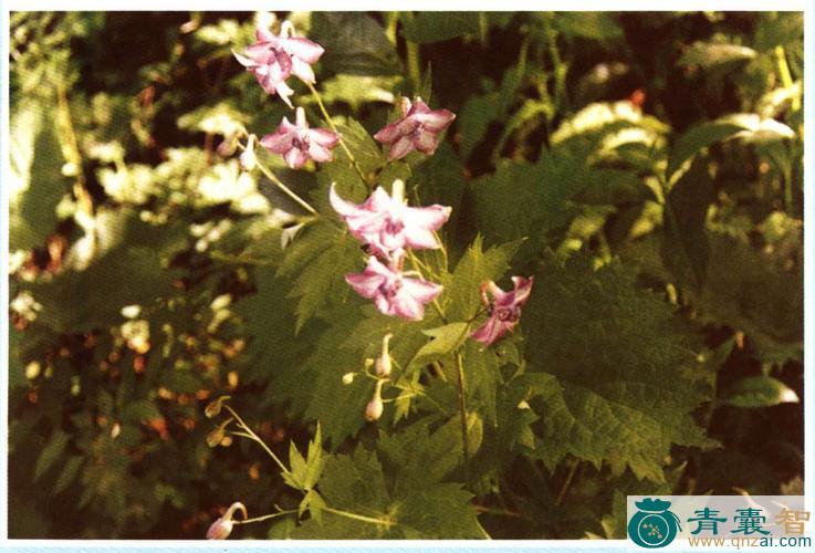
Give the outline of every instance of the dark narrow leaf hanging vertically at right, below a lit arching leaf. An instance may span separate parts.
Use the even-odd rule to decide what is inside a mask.
[[[706,231],[708,207],[714,200],[707,163],[696,160],[673,185],[664,206],[662,259],[678,281],[701,289],[710,247]]]

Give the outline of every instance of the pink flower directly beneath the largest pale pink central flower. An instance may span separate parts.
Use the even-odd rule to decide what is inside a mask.
[[[401,259],[397,260],[399,264]],[[442,290],[439,284],[405,276],[400,270],[384,265],[373,255],[365,271],[346,274],[345,281],[363,298],[374,300],[382,313],[409,321],[421,320],[425,304],[433,301]]]

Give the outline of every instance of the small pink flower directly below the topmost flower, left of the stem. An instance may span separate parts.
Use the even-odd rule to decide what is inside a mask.
[[[309,128],[302,107],[297,107],[294,125],[288,117],[283,117],[278,131],[260,140],[260,145],[268,150],[282,155],[292,169],[303,167],[309,159],[318,163],[331,161],[333,159],[331,148],[337,143],[339,143],[338,134],[327,128]]]

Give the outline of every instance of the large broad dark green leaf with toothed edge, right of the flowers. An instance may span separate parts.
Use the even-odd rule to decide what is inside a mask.
[[[690,338],[669,305],[638,290],[618,262],[595,270],[585,254],[550,258],[521,323],[540,372],[541,399],[531,404],[542,417],[546,466],[573,455],[664,481],[672,444],[713,445],[690,416],[703,388],[679,371],[694,363]]]

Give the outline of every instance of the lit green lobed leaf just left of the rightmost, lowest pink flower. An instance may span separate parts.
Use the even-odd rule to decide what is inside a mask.
[[[520,242],[483,249],[481,237],[477,237],[456,265],[450,285],[442,300],[447,316],[452,321],[469,321],[481,305],[481,284],[503,276]]]

